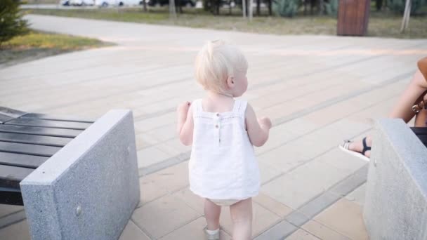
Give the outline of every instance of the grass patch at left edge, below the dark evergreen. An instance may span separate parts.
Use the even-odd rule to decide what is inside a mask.
[[[97,39],[46,32],[15,36],[0,46],[0,68],[70,51],[97,48],[108,44]]]

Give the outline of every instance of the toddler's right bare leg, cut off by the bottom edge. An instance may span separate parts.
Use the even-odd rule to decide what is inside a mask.
[[[252,199],[230,206],[233,240],[250,240],[252,235]]]

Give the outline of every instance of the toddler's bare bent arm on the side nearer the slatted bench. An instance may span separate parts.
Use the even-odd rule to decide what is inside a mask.
[[[192,109],[190,105],[190,102],[184,102],[176,109],[178,114],[178,123],[176,129],[180,142],[182,142],[185,146],[192,145],[193,121]]]

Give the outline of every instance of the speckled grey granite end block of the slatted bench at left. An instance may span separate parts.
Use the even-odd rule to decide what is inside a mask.
[[[102,116],[20,183],[30,234],[118,239],[140,198],[133,116]]]

